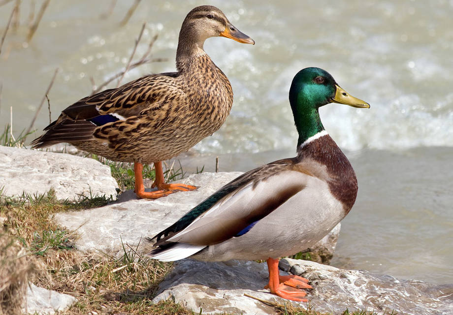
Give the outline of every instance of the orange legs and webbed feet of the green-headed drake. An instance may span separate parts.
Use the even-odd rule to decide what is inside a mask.
[[[269,284],[266,287],[268,287],[270,289],[270,292],[272,294],[276,294],[280,297],[283,297],[284,299],[297,301],[297,302],[307,302],[308,301],[307,299],[303,298],[305,295],[307,295],[307,292],[305,292],[304,290],[289,286],[284,283],[280,283],[280,277],[286,278],[286,276],[280,276],[280,274],[279,274],[278,259],[269,258],[266,260],[266,262],[267,262],[267,269],[269,270]],[[302,277],[299,277],[299,278],[304,279]],[[292,280],[294,278],[290,276],[290,278],[288,278],[286,281],[288,281],[290,279]],[[305,281],[302,281],[302,280],[297,280],[296,285],[300,285],[299,282],[301,282],[311,288],[310,285],[306,284]],[[292,283],[290,282],[290,285],[291,284]]]

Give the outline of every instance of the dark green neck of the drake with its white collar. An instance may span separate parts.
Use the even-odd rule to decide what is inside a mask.
[[[305,143],[311,137],[314,137],[315,135],[319,136],[325,132],[318,108],[313,106],[309,97],[290,92],[290,103],[294,116],[294,123],[297,132],[299,133],[297,147]]]

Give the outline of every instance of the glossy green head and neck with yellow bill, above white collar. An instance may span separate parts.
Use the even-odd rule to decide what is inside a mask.
[[[324,130],[318,109],[332,102],[358,108],[370,107],[367,102],[346,93],[330,73],[323,69],[305,68],[294,76],[290,88],[290,104],[299,132],[297,145]]]

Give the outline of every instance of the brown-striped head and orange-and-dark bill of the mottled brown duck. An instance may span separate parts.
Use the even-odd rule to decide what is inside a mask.
[[[255,44],[255,41],[234,27],[224,12],[212,5],[197,6],[190,11],[181,26],[179,41],[192,41],[203,48],[209,37],[224,36],[240,43]]]

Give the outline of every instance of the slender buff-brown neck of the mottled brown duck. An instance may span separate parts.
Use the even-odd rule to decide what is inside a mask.
[[[184,72],[194,58],[207,56],[203,50],[205,39],[199,36],[196,30],[183,25],[179,32],[178,49],[176,50],[176,68],[179,72]]]

